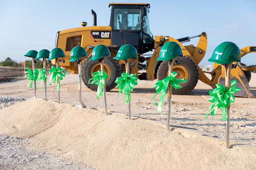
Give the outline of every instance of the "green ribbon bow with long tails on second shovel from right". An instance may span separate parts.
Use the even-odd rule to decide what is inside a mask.
[[[175,77],[176,75],[177,75],[177,73],[175,71],[173,71],[170,74],[170,77],[166,76],[166,78],[164,78],[163,80],[158,80],[156,82],[156,84],[153,86],[153,88],[156,88],[156,92],[157,92],[156,95],[161,93],[161,96],[160,96],[160,99],[159,99],[158,103],[154,102],[154,99],[155,99],[156,95],[153,97],[153,102],[156,106],[158,106],[157,111],[159,113],[161,113],[161,110],[162,110],[162,106],[163,106],[163,102],[164,102],[164,96],[165,96],[166,90],[168,88],[168,85],[170,84],[175,89],[180,89],[182,87],[179,84],[187,82],[187,80],[185,78],[176,79],[176,77]]]

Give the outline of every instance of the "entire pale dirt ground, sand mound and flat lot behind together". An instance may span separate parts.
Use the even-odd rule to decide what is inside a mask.
[[[254,94],[255,78],[252,73],[250,86]],[[211,105],[208,101],[211,87],[201,81],[187,95],[172,96],[170,131],[165,125],[167,95],[162,114],[152,101],[156,80],[139,80],[131,92],[132,120],[125,115],[128,107],[118,88],[107,92],[108,111],[113,114],[107,116],[103,98],[97,100],[96,92],[84,84],[82,100],[87,108],[76,107],[78,75],[67,73],[60,81],[61,104],[55,102],[56,83],[47,85],[46,102],[44,91],[39,90],[40,82],[37,82],[37,99],[33,99],[34,89],[27,87],[28,82],[20,79],[0,83],[3,100],[12,97],[25,100],[0,109],[0,134],[5,135],[0,143],[3,168],[59,170],[72,161],[77,169],[255,169],[256,99],[236,97],[231,104],[231,149],[228,149],[221,115],[209,115],[205,120]],[[48,158],[49,153],[55,158]],[[33,166],[28,167],[30,161]]]

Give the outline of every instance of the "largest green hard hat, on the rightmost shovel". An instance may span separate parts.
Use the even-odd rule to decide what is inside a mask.
[[[212,57],[208,61],[218,64],[228,64],[235,61],[241,61],[240,49],[233,42],[222,42],[215,48]]]

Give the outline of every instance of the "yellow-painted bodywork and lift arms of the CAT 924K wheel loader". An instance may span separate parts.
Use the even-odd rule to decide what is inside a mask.
[[[148,6],[148,8],[150,8],[149,4],[111,3],[109,5],[128,5],[128,6],[129,5],[145,5],[145,6]],[[111,14],[111,17],[112,17],[112,14]],[[138,22],[139,22],[139,19],[138,19]],[[120,22],[120,24],[121,24],[121,22]],[[120,33],[122,35],[122,31],[120,31]],[[61,48],[64,51],[64,53],[66,55],[66,57],[64,57],[64,59],[67,61],[65,63],[60,63],[60,66],[63,67],[64,69],[69,70],[73,74],[78,73],[78,64],[76,62],[68,62],[68,60],[70,59],[70,52],[73,47],[81,46],[81,47],[85,48],[86,52],[88,53],[88,56],[90,56],[92,54],[92,49],[98,44],[106,45],[109,48],[110,53],[113,57],[116,56],[116,53],[119,49],[117,45],[111,44],[112,34],[113,34],[113,28],[111,26],[83,26],[83,27],[79,27],[79,28],[63,30],[63,31],[58,32],[57,34],[58,34],[58,39],[56,38],[55,47]],[[141,53],[138,53],[139,59],[136,59],[136,64],[134,67],[130,67],[130,69],[131,69],[130,73],[131,74],[136,73],[136,76],[138,77],[138,70],[139,70],[138,63],[139,63],[139,61],[146,61],[147,62],[147,66],[146,66],[147,73],[146,73],[145,79],[146,80],[156,79],[156,72],[157,72],[157,69],[159,68],[159,65],[161,64],[161,63],[159,63],[159,61],[156,60],[159,57],[160,49],[164,43],[166,43],[168,41],[175,41],[182,48],[183,55],[189,57],[196,64],[196,67],[198,69],[197,74],[199,75],[198,76],[199,80],[210,85],[212,88],[215,88],[216,87],[215,84],[217,84],[217,83],[223,84],[223,78],[225,79],[225,76],[224,76],[225,71],[224,71],[223,66],[214,63],[214,70],[211,72],[211,75],[212,75],[211,80],[205,75],[205,73],[209,73],[209,72],[204,72],[199,68],[198,64],[204,58],[206,48],[207,48],[207,35],[206,35],[206,33],[203,32],[196,37],[200,37],[200,39],[198,41],[197,46],[195,47],[194,45],[183,46],[181,44],[180,39],[176,40],[169,36],[155,36],[155,40],[153,42],[154,43],[154,53],[153,53],[152,57],[144,58],[144,57],[140,56],[140,55],[142,55]],[[189,41],[189,38],[188,38],[188,41]],[[125,43],[125,41],[124,41],[124,43]],[[256,52],[256,48],[255,49],[254,48],[255,47],[242,48],[240,50],[241,57],[243,57],[244,55],[246,55],[250,52]],[[86,57],[84,57],[82,59],[82,63],[84,62],[85,59],[86,59]],[[124,61],[118,60],[118,63],[121,66],[122,64],[124,64]],[[53,64],[56,64],[56,63],[54,63],[54,61],[53,61]],[[105,67],[105,71],[108,74],[108,76],[111,76],[111,74],[110,74],[111,69],[108,67],[108,65],[106,63],[104,63],[104,67]],[[92,74],[93,72],[98,71],[98,70],[100,70],[100,63],[95,63],[90,70],[90,74]],[[243,70],[251,70],[252,71],[252,70],[256,70],[256,67],[255,66],[252,66],[252,67],[244,66],[244,67],[242,67],[242,69],[240,67],[236,67],[236,69],[232,69],[231,80],[237,79],[238,80],[237,86],[242,89],[241,92],[238,94],[238,96],[253,98],[255,96],[250,91],[250,87],[248,85],[248,81],[244,75]],[[189,73],[188,73],[187,68],[185,68],[184,66],[174,65],[173,71],[176,71],[178,73],[178,75],[176,76],[177,78],[188,79]],[[196,83],[197,83],[197,81],[196,81]],[[225,81],[224,81],[224,84],[225,84]]]

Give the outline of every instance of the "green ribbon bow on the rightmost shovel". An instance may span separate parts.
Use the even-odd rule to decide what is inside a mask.
[[[211,97],[208,101],[212,102],[212,105],[210,106],[208,111],[210,110],[211,115],[215,115],[217,109],[220,108],[222,110],[221,120],[227,121],[227,106],[230,106],[231,102],[235,102],[235,97],[233,93],[239,92],[241,90],[238,87],[235,88],[235,86],[236,79],[231,81],[230,89],[227,89],[227,87],[221,84],[216,84],[216,88],[209,92]],[[207,119],[208,111],[206,113],[205,119]]]

